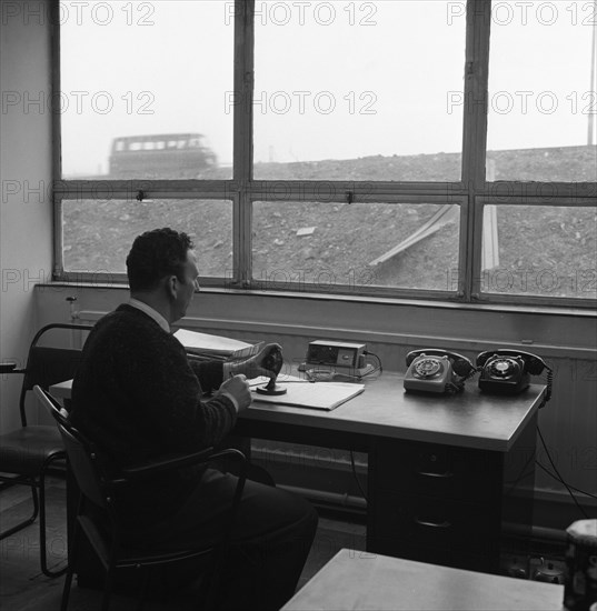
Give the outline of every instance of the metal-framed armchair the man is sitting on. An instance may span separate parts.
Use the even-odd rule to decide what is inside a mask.
[[[78,542],[81,534],[84,534],[88,539],[106,571],[101,602],[102,611],[107,611],[110,604],[115,573],[118,569],[165,568],[189,559],[201,559],[201,567],[206,568],[202,581],[203,589],[200,594],[203,603],[202,609],[213,609],[217,603],[219,578],[221,577],[220,569],[223,564],[230,531],[245,488],[247,477],[245,454],[237,449],[213,451],[212,448],[209,448],[192,454],[169,457],[160,461],[140,464],[123,470],[119,473],[119,477],[115,478],[103,468],[105,459],[98,447],[68,422],[66,412],[61,410],[56,400],[39,387],[36,387],[34,392],[56,420],[67,450],[68,468],[74,475],[74,481],[80,490],[77,519],[72,530],[73,535],[72,540],[69,541],[69,567],[62,592],[61,611],[66,611],[68,607],[72,575],[77,563]],[[218,544],[168,552],[163,550],[135,550],[121,544],[122,529],[118,515],[118,497],[116,494],[118,490],[140,478],[150,479],[156,473],[165,473],[195,464],[206,464],[220,459],[240,461],[240,475],[230,504],[227,527],[221,533]],[[99,520],[93,511],[88,511],[93,505],[105,510],[108,515],[108,523]],[[150,540],[150,533],[148,533],[147,540]],[[150,572],[148,571],[140,593],[139,609],[143,602],[142,599],[149,577]]]

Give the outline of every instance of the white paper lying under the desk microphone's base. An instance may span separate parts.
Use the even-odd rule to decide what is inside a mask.
[[[255,391],[255,385],[268,381],[268,378],[250,380],[253,402],[331,411],[365,390],[365,384],[352,382],[309,382],[293,375],[279,375],[276,383],[286,387],[286,394],[270,397]]]

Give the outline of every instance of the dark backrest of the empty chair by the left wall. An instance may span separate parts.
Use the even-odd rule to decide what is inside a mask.
[[[21,397],[19,409],[21,412],[21,423],[27,427],[26,398],[33,387],[39,385],[48,389],[51,384],[63,382],[74,378],[77,368],[81,360],[81,350],[78,348],[56,348],[38,345],[42,337],[50,330],[61,329],[71,333],[74,330],[90,331],[91,324],[68,324],[56,322],[42,327],[37,333],[29,348],[24,377],[21,387]]]

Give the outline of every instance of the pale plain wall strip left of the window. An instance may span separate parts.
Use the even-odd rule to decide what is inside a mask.
[[[28,2],[2,2],[0,22],[0,361],[23,364],[37,328],[33,286],[51,273],[50,24]],[[0,430],[19,424],[20,375],[0,377]]]

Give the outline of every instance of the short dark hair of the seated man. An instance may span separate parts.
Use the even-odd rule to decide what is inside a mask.
[[[193,248],[187,233],[168,227],[146,231],[135,238],[127,257],[127,273],[131,291],[155,289],[165,276],[182,280],[187,252]]]

